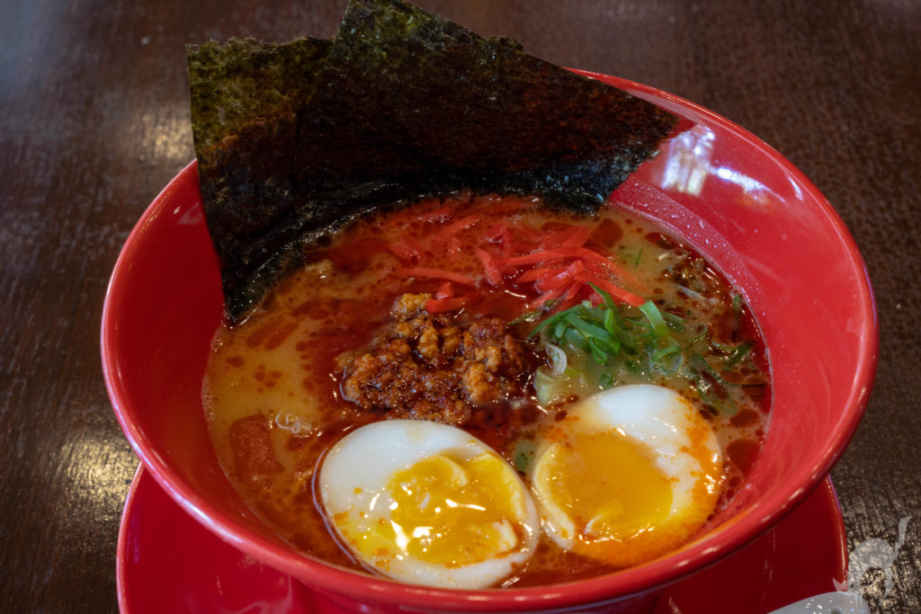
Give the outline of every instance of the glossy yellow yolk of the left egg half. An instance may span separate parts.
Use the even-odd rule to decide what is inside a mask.
[[[493,454],[437,454],[395,472],[392,503],[373,532],[374,554],[460,567],[519,549],[524,494],[513,470]],[[370,536],[369,536],[370,537]],[[382,552],[389,544],[394,551]]]

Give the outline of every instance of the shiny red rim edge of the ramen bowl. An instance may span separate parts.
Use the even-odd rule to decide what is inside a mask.
[[[671,552],[659,559],[643,563],[633,568],[609,573],[594,578],[567,582],[559,585],[544,585],[525,588],[501,588],[481,590],[460,590],[450,588],[430,588],[426,586],[405,585],[385,578],[358,573],[342,567],[322,562],[309,556],[298,554],[263,538],[247,527],[240,526],[208,503],[203,496],[195,492],[185,481],[176,478],[164,458],[161,458],[151,446],[149,439],[134,424],[130,423],[123,411],[125,392],[122,389],[118,372],[118,359],[113,347],[117,335],[117,319],[113,314],[114,296],[117,295],[122,277],[130,266],[128,256],[139,244],[143,243],[146,229],[157,215],[164,213],[164,203],[169,200],[183,182],[194,181],[197,186],[197,161],[192,160],[181,172],[169,181],[159,192],[154,201],[146,208],[134,226],[115,263],[107,287],[102,310],[100,349],[102,370],[106,388],[113,409],[122,430],[128,438],[135,453],[141,458],[147,469],[156,478],[169,496],[181,504],[192,516],[196,517],[222,539],[249,552],[255,558],[282,571],[294,575],[306,584],[324,593],[340,594],[359,601],[398,604],[408,607],[431,607],[436,603],[440,608],[451,610],[463,608],[468,611],[485,611],[501,608],[502,611],[519,611],[535,608],[555,608],[580,603],[617,600],[635,597],[651,592],[662,585],[670,584],[704,566],[716,562],[745,543],[756,539],[768,528],[775,525],[812,492],[827,475],[834,462],[844,453],[845,447],[857,430],[863,412],[869,400],[869,391],[876,373],[879,351],[879,325],[872,286],[866,264],[860,255],[857,243],[850,234],[844,221],[822,193],[806,176],[782,156],[773,147],[764,143],[752,133],[734,122],[707,110],[694,102],[675,96],[656,87],[650,87],[623,78],[601,75],[587,71],[575,70],[580,75],[598,79],[615,87],[620,87],[640,98],[664,100],[670,105],[684,111],[691,111],[695,116],[704,118],[705,122],[716,124],[723,130],[733,133],[760,154],[770,158],[782,168],[787,177],[795,180],[803,193],[809,194],[819,207],[830,227],[834,229],[838,241],[848,257],[849,270],[857,273],[859,280],[859,305],[855,311],[862,315],[860,330],[860,352],[856,356],[855,377],[845,403],[841,418],[834,424],[829,437],[830,446],[816,458],[815,464],[799,468],[795,475],[766,500],[760,501],[756,510],[750,510],[738,522],[733,519],[718,527],[718,542],[711,543],[715,532],[696,539],[681,550]],[[309,578],[309,579],[307,579]],[[360,581],[359,581],[360,579]]]

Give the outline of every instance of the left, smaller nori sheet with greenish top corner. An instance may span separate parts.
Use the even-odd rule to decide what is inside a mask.
[[[297,110],[313,95],[331,47],[300,38],[187,49],[204,213],[225,276],[251,268],[252,242],[293,206]],[[225,293],[228,306],[239,302],[238,293],[232,286]]]

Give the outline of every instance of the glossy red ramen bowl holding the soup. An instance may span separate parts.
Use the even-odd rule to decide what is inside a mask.
[[[652,562],[525,589],[402,585],[298,554],[240,499],[206,430],[202,378],[223,298],[194,163],[134,227],[102,316],[103,370],[116,415],[178,504],[346,610],[643,611],[658,589],[757,538],[822,481],[857,428],[876,365],[873,295],[853,238],[799,170],[739,126],[651,87],[589,76],[693,122],[615,198],[672,228],[725,272],[764,336],[773,377],[769,432],[715,526]]]

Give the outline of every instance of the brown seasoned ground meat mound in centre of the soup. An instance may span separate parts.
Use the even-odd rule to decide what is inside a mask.
[[[366,350],[340,356],[343,395],[392,418],[462,424],[472,411],[520,397],[525,350],[498,318],[455,321],[425,310],[431,295],[402,295],[393,322]]]

